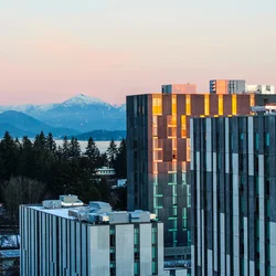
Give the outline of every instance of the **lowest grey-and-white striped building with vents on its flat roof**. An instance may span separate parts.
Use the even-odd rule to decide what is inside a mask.
[[[77,202],[77,204],[75,204]],[[75,197],[20,206],[22,276],[163,275],[163,225]]]

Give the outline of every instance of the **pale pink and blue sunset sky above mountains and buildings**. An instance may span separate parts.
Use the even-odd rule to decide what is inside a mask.
[[[0,0],[0,105],[276,85],[275,0]]]

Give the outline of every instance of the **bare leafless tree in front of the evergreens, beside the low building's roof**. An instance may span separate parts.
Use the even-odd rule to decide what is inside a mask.
[[[11,178],[3,183],[4,205],[14,223],[18,222],[19,205],[41,202],[45,190],[44,183],[23,177]]]

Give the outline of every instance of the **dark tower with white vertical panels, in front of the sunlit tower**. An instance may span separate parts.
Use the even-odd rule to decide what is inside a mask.
[[[276,116],[190,127],[192,275],[276,275]]]

